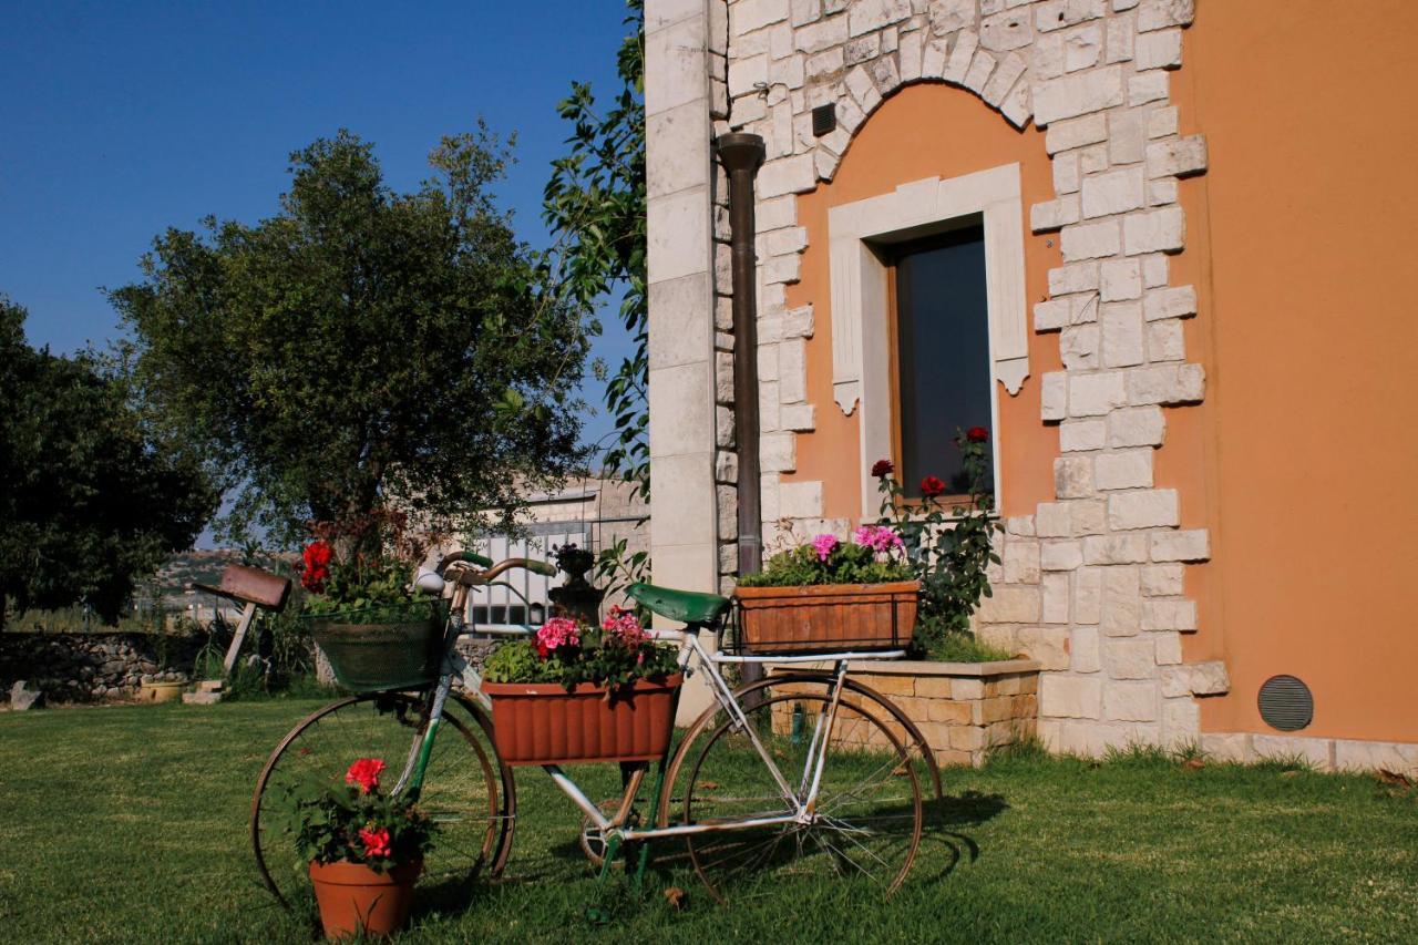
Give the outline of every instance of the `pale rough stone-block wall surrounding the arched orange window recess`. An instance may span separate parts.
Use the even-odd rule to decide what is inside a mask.
[[[654,14],[676,4],[651,4]],[[695,14],[698,16],[698,13]],[[814,429],[805,342],[811,305],[790,309],[807,231],[797,194],[828,182],[873,109],[913,82],[977,95],[1017,128],[1046,128],[1055,196],[1031,207],[1035,233],[1058,233],[1062,265],[1034,329],[1056,333],[1064,370],[1041,385],[1041,420],[1059,426],[1055,501],[1005,522],[981,634],[1044,665],[1039,734],[1099,753],[1127,742],[1200,739],[1195,697],[1225,692],[1221,663],[1185,664],[1181,634],[1201,630],[1184,568],[1210,556],[1205,531],[1180,529],[1195,497],[1154,487],[1167,409],[1205,396],[1183,319],[1193,287],[1173,285],[1185,247],[1178,179],[1202,173],[1201,136],[1178,133],[1168,72],[1183,62],[1193,0],[709,0],[702,24],[715,135],[761,135],[757,179],[759,372],[763,518],[800,532],[822,519],[821,482],[781,481],[795,437]],[[652,71],[651,87],[657,82]],[[817,138],[811,111],[837,129]],[[655,163],[654,132],[651,163]],[[713,194],[715,480],[720,583],[732,583],[736,470],[723,172]],[[654,238],[654,234],[652,234]],[[654,315],[652,315],[654,318]]]

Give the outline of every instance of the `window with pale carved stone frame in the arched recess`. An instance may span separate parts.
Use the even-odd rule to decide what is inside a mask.
[[[1029,375],[1020,166],[927,177],[842,203],[828,210],[827,230],[832,399],[844,414],[861,419],[864,465],[895,457],[903,482],[919,487],[919,468],[949,482],[949,470],[930,467],[954,458],[957,426],[978,424],[991,430],[1001,502],[998,424],[991,420],[1000,389],[1017,394]],[[902,291],[909,297],[905,319],[893,299]],[[976,315],[964,316],[964,308]],[[905,332],[900,321],[909,322]],[[903,444],[913,455],[902,453]],[[862,516],[875,516],[881,497],[865,470],[861,499]]]

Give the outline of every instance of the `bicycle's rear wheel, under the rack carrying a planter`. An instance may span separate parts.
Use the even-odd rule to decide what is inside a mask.
[[[818,692],[776,695],[746,711],[746,726],[722,709],[710,722],[683,782],[683,817],[715,827],[686,841],[695,871],[718,900],[781,897],[784,883],[821,880],[889,895],[910,871],[922,826],[910,755],[864,707],[839,702],[835,717],[830,707],[831,698]],[[735,826],[784,816],[794,799],[805,799],[817,773],[814,742],[822,738],[827,753],[813,809],[800,822]]]

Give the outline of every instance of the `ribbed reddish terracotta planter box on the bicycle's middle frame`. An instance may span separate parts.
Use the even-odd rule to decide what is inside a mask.
[[[505,765],[655,761],[669,749],[683,675],[637,680],[615,690],[559,682],[484,682]]]

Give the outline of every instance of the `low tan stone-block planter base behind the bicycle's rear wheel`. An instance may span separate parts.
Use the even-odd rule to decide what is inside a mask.
[[[830,664],[810,664],[828,670]],[[769,664],[770,675],[801,671],[798,665]],[[1038,731],[1039,664],[1034,660],[998,663],[930,663],[916,660],[854,661],[852,680],[900,707],[925,735],[940,765],[984,763],[990,749],[1035,736]],[[821,692],[821,684],[783,684],[774,694],[797,688]],[[773,728],[793,725],[793,702],[774,705]],[[900,732],[898,732],[899,735]]]

